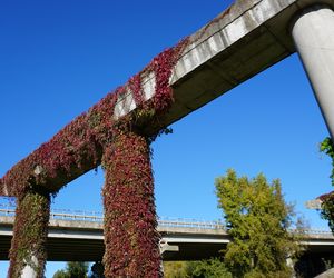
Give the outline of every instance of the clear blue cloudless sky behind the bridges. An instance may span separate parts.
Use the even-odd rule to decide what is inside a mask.
[[[150,59],[230,1],[2,1],[0,176]],[[325,123],[296,54],[173,125],[154,147],[157,212],[222,219],[214,180],[234,168],[279,178],[286,201],[326,227],[306,200],[331,190],[318,152]],[[69,183],[53,208],[101,211],[104,173]],[[7,262],[0,262],[4,277]],[[62,265],[48,264],[47,277]]]

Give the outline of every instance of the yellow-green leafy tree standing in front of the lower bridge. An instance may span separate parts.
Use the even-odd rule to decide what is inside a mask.
[[[291,277],[286,259],[299,251],[288,232],[293,206],[286,205],[279,180],[269,185],[263,175],[249,180],[228,170],[216,179],[218,207],[224,210],[233,240],[224,262],[234,277]]]

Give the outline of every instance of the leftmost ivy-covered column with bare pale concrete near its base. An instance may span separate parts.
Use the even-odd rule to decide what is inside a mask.
[[[45,277],[49,215],[49,193],[31,190],[18,198],[9,252],[9,278]]]

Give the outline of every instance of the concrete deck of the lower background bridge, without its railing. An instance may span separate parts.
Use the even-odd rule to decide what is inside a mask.
[[[0,217],[0,260],[8,258],[12,237],[12,217]],[[169,248],[164,260],[193,260],[217,256],[230,238],[224,229],[159,226],[161,241]],[[310,254],[334,252],[334,237],[330,232],[310,234],[304,245]],[[175,251],[178,248],[179,251]],[[50,220],[47,241],[49,261],[101,260],[105,250],[101,222]]]

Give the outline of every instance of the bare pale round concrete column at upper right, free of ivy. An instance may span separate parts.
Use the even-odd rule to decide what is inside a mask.
[[[292,36],[334,140],[334,11],[306,8],[293,22]]]

